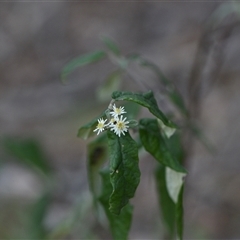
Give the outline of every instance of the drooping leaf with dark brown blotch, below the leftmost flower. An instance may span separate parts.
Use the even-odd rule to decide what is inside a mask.
[[[97,208],[97,198],[100,190],[99,170],[102,164],[108,159],[108,147],[106,133],[101,134],[87,147],[87,170],[88,183],[93,195],[95,207]]]

